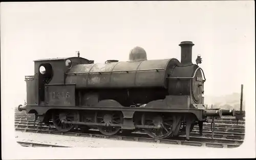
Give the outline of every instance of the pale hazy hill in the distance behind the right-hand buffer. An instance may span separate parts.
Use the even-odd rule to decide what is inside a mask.
[[[224,96],[207,96],[205,95],[205,104],[208,108],[235,109],[240,111],[240,93],[232,93]],[[245,110],[245,101],[243,100],[243,111]]]

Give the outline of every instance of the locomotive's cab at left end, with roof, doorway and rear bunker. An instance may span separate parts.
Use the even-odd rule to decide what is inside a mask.
[[[94,61],[80,57],[35,60],[34,76],[25,77],[27,82],[27,104],[56,105],[56,100],[63,100],[60,97],[74,97],[72,92],[63,92],[61,89],[65,85],[65,73],[77,64],[90,63],[94,63]],[[68,90],[72,90],[72,87],[69,86],[68,88]]]

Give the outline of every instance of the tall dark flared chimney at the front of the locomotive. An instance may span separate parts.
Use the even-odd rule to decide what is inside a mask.
[[[191,41],[183,41],[179,44],[181,47],[181,64],[190,65],[192,63],[192,46],[195,45]]]

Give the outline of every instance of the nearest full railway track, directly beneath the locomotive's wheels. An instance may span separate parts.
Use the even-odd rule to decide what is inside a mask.
[[[39,127],[39,126],[36,126]],[[16,131],[26,131],[26,132],[36,132],[41,134],[53,134],[53,135],[63,135],[63,136],[75,136],[75,137],[90,137],[90,138],[103,138],[103,139],[114,139],[114,140],[126,140],[126,141],[139,141],[139,142],[153,142],[153,143],[167,143],[167,144],[177,144],[177,145],[190,145],[190,146],[205,146],[205,147],[218,147],[218,148],[234,148],[239,147],[243,140],[231,140],[231,139],[220,139],[220,138],[208,138],[208,137],[198,137],[196,135],[191,135],[190,141],[185,141],[185,136],[180,136],[175,139],[164,139],[155,140],[152,138],[147,138],[146,134],[143,132],[133,132],[131,135],[127,136],[125,134],[118,134],[116,136],[104,136],[98,134],[97,130],[91,130],[90,133],[82,133],[80,131],[70,131],[70,132],[60,132],[55,128],[49,128],[43,126],[42,129],[33,128],[33,126],[16,126]]]

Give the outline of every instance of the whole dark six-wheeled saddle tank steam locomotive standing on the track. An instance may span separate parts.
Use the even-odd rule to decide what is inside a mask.
[[[60,131],[75,126],[97,128],[103,135],[143,129],[155,139],[186,135],[207,116],[234,116],[234,111],[206,109],[203,70],[191,61],[190,41],[181,42],[177,59],[147,60],[135,47],[129,61],[94,63],[79,57],[36,60],[33,76],[25,76],[27,104],[40,122]]]

